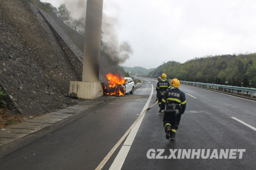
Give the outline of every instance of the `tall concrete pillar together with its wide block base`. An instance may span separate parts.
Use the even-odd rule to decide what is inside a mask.
[[[82,82],[71,81],[70,93],[93,99],[103,95],[99,82],[99,58],[103,0],[87,0]]]

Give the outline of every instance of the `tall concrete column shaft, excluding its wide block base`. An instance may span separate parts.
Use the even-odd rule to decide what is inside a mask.
[[[99,58],[103,0],[87,0],[83,82],[99,82]]]

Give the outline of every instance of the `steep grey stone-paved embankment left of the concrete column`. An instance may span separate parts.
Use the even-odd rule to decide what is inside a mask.
[[[0,84],[11,109],[65,107],[70,81],[81,81],[83,53],[58,24],[27,0],[0,0],[0,34]]]

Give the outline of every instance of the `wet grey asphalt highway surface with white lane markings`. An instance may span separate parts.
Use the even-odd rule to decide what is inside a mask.
[[[171,141],[154,105],[157,80],[143,80],[134,94],[43,129],[45,136],[0,158],[0,170],[256,169],[255,101],[181,85],[187,108]]]

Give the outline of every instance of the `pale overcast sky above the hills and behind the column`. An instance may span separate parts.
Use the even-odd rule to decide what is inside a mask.
[[[85,17],[86,0],[65,3],[73,18]],[[256,52],[256,0],[103,0],[107,43],[133,53],[119,65],[157,68],[171,60]],[[108,24],[106,24],[108,23]]]

